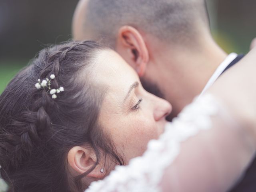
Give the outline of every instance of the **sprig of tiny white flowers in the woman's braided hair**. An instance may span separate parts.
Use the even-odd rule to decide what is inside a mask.
[[[55,75],[54,75],[54,74],[51,74],[51,75],[50,75],[50,79],[52,80],[52,79],[54,79],[54,78],[55,78]],[[46,79],[42,80],[42,82],[41,82],[41,80],[38,79],[38,80],[37,80],[38,83],[35,84],[35,87],[36,87],[37,89],[40,89],[41,87],[45,89],[45,87],[47,87],[47,88],[48,88],[48,91],[47,91],[47,92],[49,92],[49,94],[52,95],[52,98],[53,98],[53,99],[56,99],[56,98],[57,98],[57,95],[56,95],[56,94],[58,94],[58,93],[60,93],[60,92],[63,92],[63,91],[64,91],[64,88],[63,88],[63,87],[59,87],[58,89],[52,89],[52,88],[50,87],[50,86],[51,86],[51,80],[49,80],[48,78],[46,78]]]

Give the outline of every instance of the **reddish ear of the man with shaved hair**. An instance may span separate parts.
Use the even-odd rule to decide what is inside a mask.
[[[118,30],[116,51],[143,76],[146,70],[149,54],[146,43],[138,30],[132,26],[122,26]]]

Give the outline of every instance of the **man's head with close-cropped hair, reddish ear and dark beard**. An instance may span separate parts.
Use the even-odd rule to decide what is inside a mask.
[[[80,0],[73,35],[116,50],[146,90],[173,104],[174,116],[209,78],[194,73],[214,44],[204,0]]]

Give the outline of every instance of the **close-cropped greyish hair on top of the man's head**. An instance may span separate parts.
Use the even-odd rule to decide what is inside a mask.
[[[81,0],[76,9],[76,40],[102,40],[113,48],[118,29],[129,25],[167,42],[196,40],[208,26],[204,0]]]

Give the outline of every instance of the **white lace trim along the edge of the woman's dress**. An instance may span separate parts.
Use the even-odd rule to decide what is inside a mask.
[[[161,192],[162,178],[180,153],[180,145],[202,130],[212,128],[211,117],[218,114],[218,102],[210,94],[184,108],[168,123],[158,140],[151,140],[141,157],[128,166],[116,166],[109,176],[92,182],[86,192]]]

